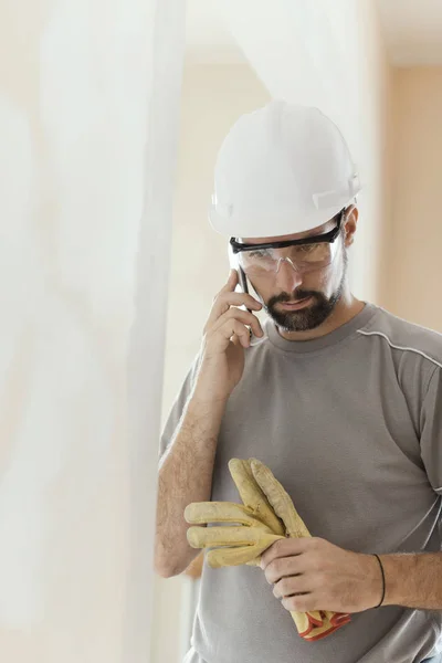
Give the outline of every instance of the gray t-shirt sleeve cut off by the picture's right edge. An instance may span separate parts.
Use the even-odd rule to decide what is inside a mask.
[[[442,495],[442,368],[431,375],[421,410],[421,456],[434,491]]]

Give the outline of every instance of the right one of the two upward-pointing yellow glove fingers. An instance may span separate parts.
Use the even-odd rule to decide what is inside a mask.
[[[275,478],[271,470],[255,459],[251,459],[251,467],[256,483],[267,496],[275,514],[283,520],[288,536],[293,538],[311,536],[291,496]]]

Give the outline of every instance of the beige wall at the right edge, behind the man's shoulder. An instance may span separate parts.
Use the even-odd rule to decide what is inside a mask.
[[[392,117],[383,299],[397,315],[442,332],[442,67],[397,70]]]

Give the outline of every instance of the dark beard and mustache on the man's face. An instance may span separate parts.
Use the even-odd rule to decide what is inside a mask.
[[[297,288],[292,294],[281,293],[269,299],[265,309],[277,327],[284,332],[308,332],[309,329],[316,329],[316,327],[319,327],[328,318],[343,296],[348,263],[345,250],[343,257],[343,277],[338,287],[329,297],[326,297],[320,291]],[[312,297],[312,304],[299,311],[281,311],[276,308],[278,303],[306,299],[308,297]]]

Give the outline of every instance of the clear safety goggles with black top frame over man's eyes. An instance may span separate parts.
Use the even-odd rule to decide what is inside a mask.
[[[323,270],[330,265],[338,250],[338,242],[345,209],[337,214],[337,224],[329,232],[305,238],[287,240],[269,244],[244,244],[234,238],[230,240],[233,254],[238,255],[239,264],[250,277],[277,274],[283,262],[305,274]]]

